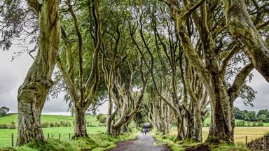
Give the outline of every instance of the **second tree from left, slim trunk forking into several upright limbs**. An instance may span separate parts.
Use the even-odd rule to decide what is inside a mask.
[[[92,57],[92,63],[90,69],[88,69],[89,71],[85,71],[83,68],[83,57],[85,57],[83,56],[83,40],[85,39],[83,38],[81,27],[78,22],[78,16],[74,11],[74,8],[79,6],[78,4],[87,6],[88,11],[86,11],[86,13],[90,13],[92,11],[92,14],[90,13],[88,16],[90,18],[91,15],[93,16],[95,24],[94,34],[92,34],[92,31],[90,31],[90,33],[85,36],[87,38],[92,36],[93,39],[93,41],[91,41],[93,46],[89,47],[93,50],[93,53],[88,55]],[[71,32],[75,33],[76,36],[76,48],[73,50],[73,43],[71,43],[71,40],[68,37],[69,34],[67,34],[67,31],[64,29],[64,27],[62,27],[62,38],[64,40],[65,51],[58,55],[57,66],[62,73],[65,85],[67,85],[67,91],[69,92],[72,107],[74,109],[74,137],[83,137],[88,136],[86,130],[85,112],[95,100],[95,94],[99,85],[99,51],[101,50],[102,46],[102,23],[99,15],[99,5],[97,0],[89,0],[87,3],[79,2],[78,4],[75,3],[75,5],[73,5],[71,4],[70,0],[67,0],[67,10],[71,15],[71,20],[74,24],[74,30],[71,30]],[[90,28],[92,28],[91,26],[92,22],[90,20]],[[75,58],[74,52],[77,53],[77,59]],[[67,65],[64,64],[65,62],[67,62]],[[78,66],[76,66],[76,63]],[[90,62],[88,62],[88,64],[90,64]],[[76,70],[78,74],[76,74]]]

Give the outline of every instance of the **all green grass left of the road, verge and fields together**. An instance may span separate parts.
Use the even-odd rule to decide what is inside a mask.
[[[9,114],[0,117],[0,124],[10,124],[14,121],[17,124],[17,114]],[[11,134],[14,134],[14,141],[17,139],[17,129],[0,129],[0,151],[78,151],[92,150],[102,151],[109,148],[115,148],[116,142],[134,139],[139,134],[139,131],[133,130],[132,133],[123,134],[117,137],[111,137],[106,134],[106,127],[97,121],[96,116],[87,115],[87,122],[90,122],[92,127],[87,127],[89,138],[79,138],[76,141],[69,141],[69,134],[73,134],[74,127],[48,127],[43,128],[43,133],[46,136],[45,143],[32,142],[20,148],[11,148]],[[74,117],[65,115],[42,115],[41,122],[73,122]],[[130,129],[134,129],[131,124]],[[48,138],[50,134],[50,138]],[[60,140],[59,140],[60,134]]]

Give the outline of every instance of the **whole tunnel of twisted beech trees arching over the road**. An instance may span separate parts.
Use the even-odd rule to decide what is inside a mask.
[[[34,59],[18,90],[18,145],[45,141],[42,109],[61,92],[75,115],[74,138],[87,136],[85,113],[104,100],[111,136],[134,120],[162,134],[174,123],[177,139],[201,142],[210,112],[207,143],[233,144],[235,117],[268,120],[268,110],[253,115],[233,106],[238,97],[252,105],[253,69],[269,81],[266,1],[0,3],[0,47],[8,50],[14,39],[28,43],[18,54]]]

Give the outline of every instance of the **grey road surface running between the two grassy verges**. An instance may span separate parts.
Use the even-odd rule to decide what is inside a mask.
[[[166,145],[156,145],[157,141],[150,134],[140,134],[133,141],[122,141],[117,143],[116,148],[108,151],[171,151]]]

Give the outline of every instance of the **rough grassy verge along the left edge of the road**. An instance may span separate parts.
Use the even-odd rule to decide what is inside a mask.
[[[134,139],[138,134],[139,131],[137,130],[117,137],[100,133],[89,138],[78,138],[76,141],[59,141],[57,139],[48,138],[45,143],[32,142],[19,148],[0,148],[0,151],[102,151],[116,147],[118,141]]]

